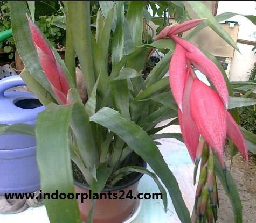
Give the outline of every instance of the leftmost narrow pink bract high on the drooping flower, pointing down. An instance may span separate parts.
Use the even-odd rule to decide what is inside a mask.
[[[185,87],[186,77],[186,57],[183,47],[176,44],[174,54],[171,57],[169,66],[169,82],[172,91],[172,95],[176,100],[176,103],[182,111],[182,97]]]

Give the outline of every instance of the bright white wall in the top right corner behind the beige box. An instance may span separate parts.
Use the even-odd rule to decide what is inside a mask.
[[[245,15],[256,15],[256,2],[255,1],[219,1],[217,15],[224,12],[234,12]],[[238,21],[239,32],[238,39],[243,40],[256,40],[256,26],[247,18],[243,16],[233,16],[228,19],[231,21]],[[230,80],[231,81],[247,81],[248,71],[252,69],[256,56],[252,52],[252,45],[237,44],[240,52],[235,52],[231,62]]]

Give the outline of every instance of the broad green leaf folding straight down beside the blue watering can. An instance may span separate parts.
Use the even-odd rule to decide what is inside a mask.
[[[69,122],[73,105],[50,104],[38,114],[37,163],[41,189],[46,193],[74,193],[73,175],[68,145]],[[80,213],[75,199],[45,200],[48,217],[52,223],[80,223]]]

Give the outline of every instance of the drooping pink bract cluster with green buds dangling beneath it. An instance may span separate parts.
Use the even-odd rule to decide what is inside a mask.
[[[202,19],[197,19],[166,27],[156,39],[170,37],[176,42],[170,62],[169,81],[178,105],[183,139],[196,164],[195,177],[202,158],[193,214],[198,215],[200,222],[206,219],[208,222],[213,222],[213,219],[216,222],[219,203],[213,151],[225,173],[223,150],[226,135],[243,155],[247,168],[248,154],[243,135],[227,112],[229,96],[222,73],[197,47],[176,36],[201,22]],[[192,64],[209,78],[216,91],[197,78]]]

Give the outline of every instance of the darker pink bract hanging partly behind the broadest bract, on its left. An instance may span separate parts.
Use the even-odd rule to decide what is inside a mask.
[[[186,81],[184,96],[182,100],[182,109],[178,109],[179,125],[181,126],[181,132],[184,139],[186,148],[193,162],[196,159],[196,151],[199,143],[199,133],[197,127],[190,114],[189,96],[193,83],[193,78],[189,75]]]

